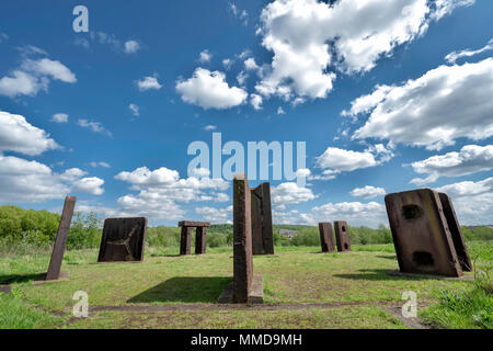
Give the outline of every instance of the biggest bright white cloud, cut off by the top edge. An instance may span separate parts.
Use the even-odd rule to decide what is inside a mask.
[[[275,0],[263,9],[259,31],[274,54],[271,72],[255,89],[266,97],[325,98],[334,70],[370,70],[380,57],[422,35],[431,21],[469,2]]]

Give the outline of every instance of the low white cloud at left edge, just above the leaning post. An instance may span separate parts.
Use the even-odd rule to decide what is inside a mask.
[[[84,174],[77,168],[55,173],[37,161],[0,155],[0,202],[38,203],[62,199],[72,191],[102,194],[104,181],[82,178]]]

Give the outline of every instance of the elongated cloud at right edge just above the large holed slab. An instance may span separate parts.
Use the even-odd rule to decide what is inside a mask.
[[[436,155],[411,163],[416,173],[429,174],[415,178],[412,184],[423,185],[436,181],[439,177],[461,177],[493,169],[493,145],[466,145],[459,151]]]

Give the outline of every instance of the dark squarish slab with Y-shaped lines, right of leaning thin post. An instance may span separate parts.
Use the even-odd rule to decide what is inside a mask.
[[[98,262],[142,261],[147,218],[106,218]]]

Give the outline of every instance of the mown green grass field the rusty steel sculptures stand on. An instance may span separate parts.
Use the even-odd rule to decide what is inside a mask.
[[[490,271],[493,246],[468,242],[477,269]],[[69,251],[69,281],[33,285],[49,254],[0,259],[0,328],[410,328],[401,295],[417,295],[421,321],[435,328],[491,328],[491,292],[473,281],[389,275],[398,263],[392,245],[354,246],[321,253],[318,247],[279,247],[254,257],[264,280],[261,308],[218,307],[231,281],[232,249],[204,256],[148,248],[142,263],[96,264],[96,250]],[[467,273],[472,275],[472,273]],[[89,295],[89,318],[73,318],[77,291]],[[483,294],[483,295],[481,295]],[[473,303],[469,304],[469,301]]]

